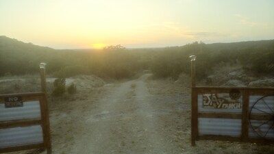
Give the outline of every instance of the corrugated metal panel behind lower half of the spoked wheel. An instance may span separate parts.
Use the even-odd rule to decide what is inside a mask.
[[[265,136],[265,138],[274,138],[273,121],[251,120],[251,125],[249,125],[249,137],[262,138]]]

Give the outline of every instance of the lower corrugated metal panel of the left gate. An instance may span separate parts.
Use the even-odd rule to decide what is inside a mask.
[[[0,129],[0,148],[42,142],[42,127],[40,125]]]

